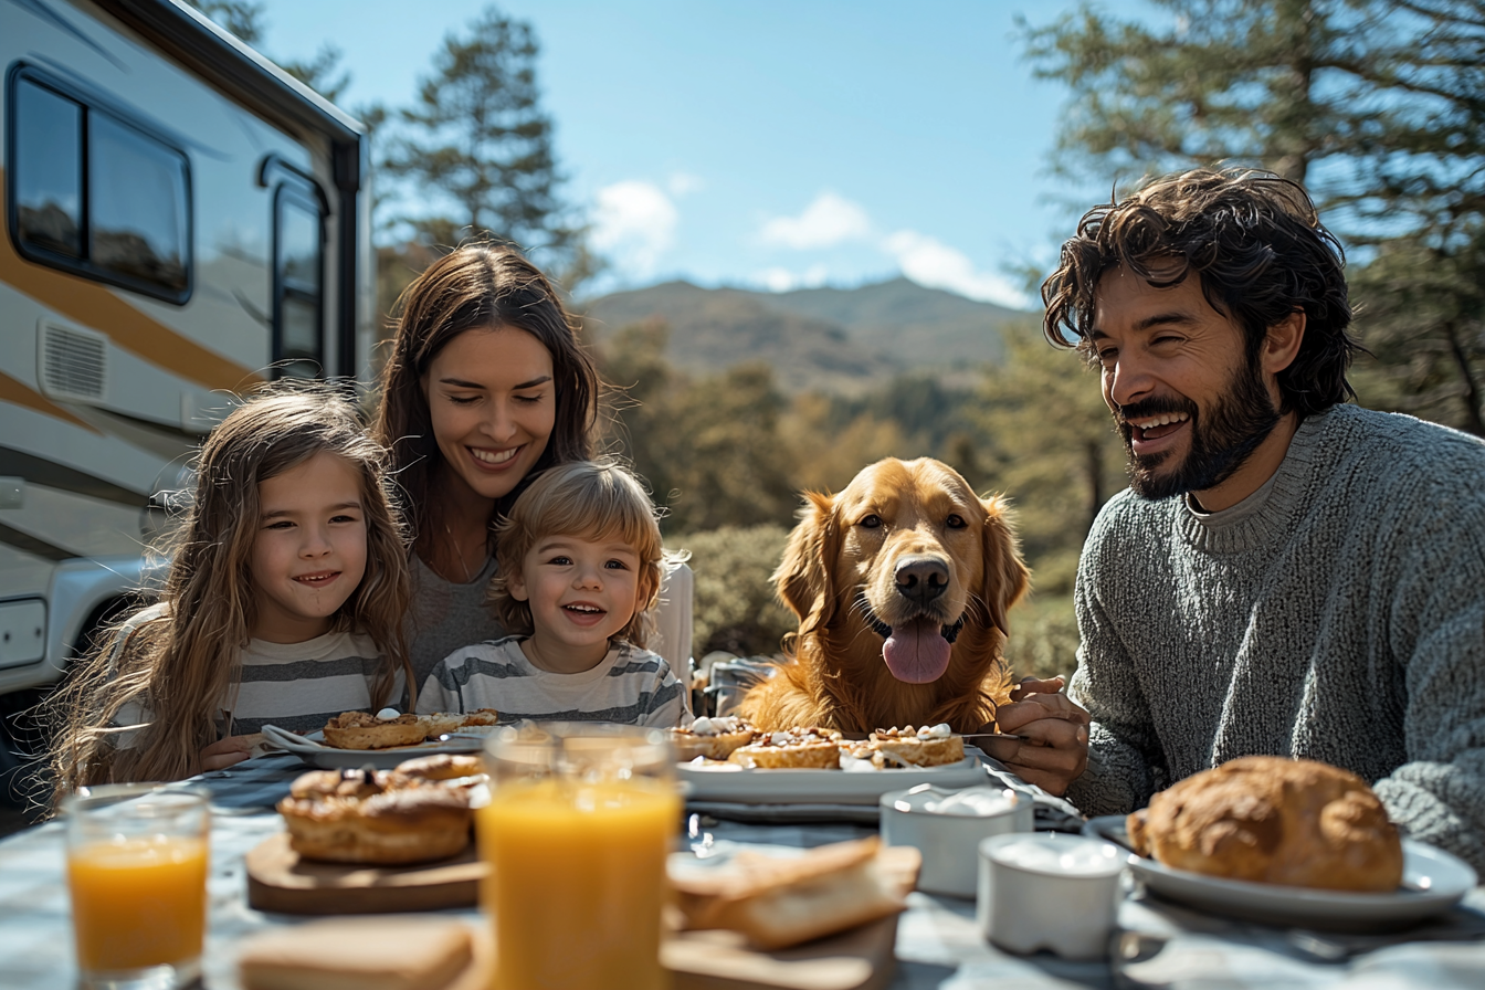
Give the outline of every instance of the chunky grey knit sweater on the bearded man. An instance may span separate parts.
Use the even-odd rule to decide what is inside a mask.
[[[1341,405],[1225,512],[1123,491],[1089,534],[1077,612],[1084,813],[1234,757],[1307,757],[1485,870],[1481,441]]]

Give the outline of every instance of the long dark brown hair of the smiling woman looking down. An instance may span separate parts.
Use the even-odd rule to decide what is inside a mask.
[[[527,481],[541,471],[593,456],[598,370],[579,341],[557,289],[514,248],[492,243],[457,248],[407,286],[392,352],[382,371],[382,407],[374,436],[392,451],[414,540],[437,530],[429,525],[431,494],[444,460],[434,438],[423,374],[459,334],[499,327],[524,330],[546,347],[557,386],[557,420],[546,450],[527,478],[496,502],[490,522],[509,511]]]

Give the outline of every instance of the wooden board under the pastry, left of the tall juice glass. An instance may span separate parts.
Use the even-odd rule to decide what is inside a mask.
[[[252,848],[248,907],[284,914],[385,914],[474,907],[486,865],[474,843],[459,856],[411,867],[300,859],[278,833]]]

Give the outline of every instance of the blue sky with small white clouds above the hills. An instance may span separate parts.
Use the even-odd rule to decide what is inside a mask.
[[[506,0],[542,45],[566,196],[610,261],[595,289],[849,286],[898,273],[1028,306],[1066,200],[1047,166],[1065,92],[1020,58],[1014,16],[1065,0],[781,3]],[[1105,4],[1143,9],[1132,1]],[[337,45],[347,107],[411,101],[475,0],[266,0],[263,47]]]

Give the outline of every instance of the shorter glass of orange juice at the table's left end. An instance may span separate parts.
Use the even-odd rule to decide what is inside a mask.
[[[62,807],[79,986],[193,981],[206,932],[208,794],[110,784],[82,788]]]

